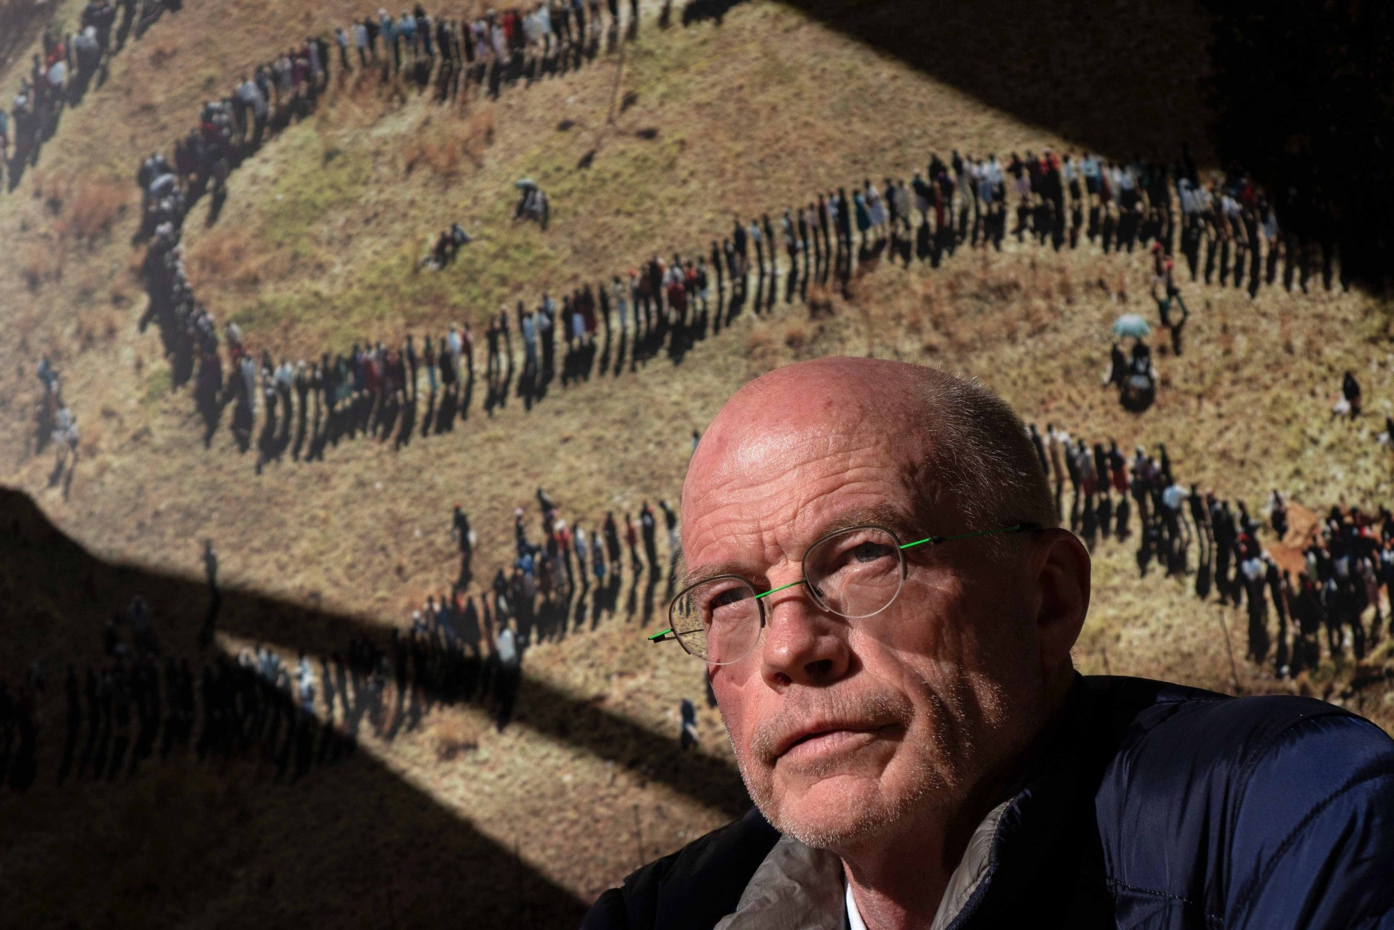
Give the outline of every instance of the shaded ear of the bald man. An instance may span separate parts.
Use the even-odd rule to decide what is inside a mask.
[[[1072,669],[1069,650],[1089,613],[1092,562],[1089,549],[1069,530],[1043,530],[1030,561],[1037,650],[1041,676],[1050,685]]]

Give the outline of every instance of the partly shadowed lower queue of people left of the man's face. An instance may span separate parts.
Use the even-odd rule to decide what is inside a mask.
[[[658,584],[672,595],[677,513],[666,501],[643,503],[623,528],[606,513],[587,530],[567,523],[552,498],[537,491],[538,534],[523,509],[514,514],[513,552],[491,581],[471,588],[477,542],[459,505],[449,531],[460,573],[413,611],[404,629],[360,633],[343,650],[290,661],[256,644],[219,653],[195,671],[190,650],[156,634],[153,608],[137,595],[102,627],[102,661],[68,665],[63,685],[66,726],[56,779],[114,781],[171,753],[198,760],[251,760],[275,779],[298,779],[311,767],[351,754],[367,729],[392,740],[411,732],[438,706],[473,703],[503,729],[513,714],[523,655],[544,640],[594,626],[620,608],[627,549],[631,594],[623,609],[654,616]],[[666,554],[661,555],[661,547]],[[223,595],[217,554],[204,549],[209,613],[199,648],[212,643]],[[192,637],[191,643],[192,644]],[[35,661],[17,694],[0,676],[0,784],[28,788],[38,771],[45,693]]]

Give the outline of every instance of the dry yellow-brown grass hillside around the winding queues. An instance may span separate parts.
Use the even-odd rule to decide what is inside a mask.
[[[70,0],[57,15],[74,21],[78,6]],[[198,579],[204,538],[219,547],[224,586],[250,598],[302,605],[364,629],[404,625],[427,594],[454,577],[452,503],[471,514],[480,534],[477,577],[487,579],[512,549],[513,509],[531,508],[535,488],[546,488],[569,519],[588,527],[606,510],[675,501],[691,431],[705,428],[749,378],[818,354],[944,365],[980,376],[1029,420],[1112,436],[1124,448],[1165,442],[1181,475],[1243,498],[1250,510],[1271,487],[1313,509],[1390,499],[1388,453],[1374,442],[1377,413],[1394,402],[1384,308],[1359,294],[1264,290],[1250,303],[1234,289],[1184,284],[1193,311],[1186,351],[1157,358],[1158,403],[1135,417],[1098,388],[1098,376],[1114,317],[1154,314],[1144,257],[1105,257],[1096,248],[1055,254],[1015,241],[1001,255],[960,251],[938,270],[867,266],[846,296],[815,290],[817,314],[781,298],[774,312],[754,318],[747,311],[700,342],[680,364],[655,358],[636,372],[597,374],[553,388],[528,410],[510,397],[485,416],[477,388],[454,431],[417,436],[400,449],[360,438],[330,449],[323,462],[286,459],[258,474],[254,456],[237,452],[224,425],[205,450],[187,392],[170,392],[158,336],[137,332],[145,298],[130,244],[134,169],[243,68],[350,11],[362,7],[344,0],[187,3],[113,61],[107,82],[63,117],[38,167],[0,195],[0,243],[7,244],[0,252],[7,330],[0,339],[0,482],[32,495],[95,558],[130,566],[127,576],[116,574],[124,583],[95,588],[96,604],[60,598],[71,607],[28,619],[24,639],[0,637],[0,669],[13,673],[39,655],[56,676],[64,655],[96,648],[96,618],[124,607],[142,579],[162,593],[152,604],[169,636],[191,640],[197,619],[190,618],[202,602],[190,586],[156,579]],[[0,71],[0,86],[17,75],[14,66]],[[629,92],[633,105],[615,107],[608,120],[611,105]],[[570,125],[562,128],[563,121]],[[1044,146],[1068,149],[1072,139],[991,109],[789,7],[742,4],[721,26],[666,31],[652,25],[650,10],[623,56],[602,53],[577,73],[505,89],[495,102],[441,107],[414,93],[386,93],[372,81],[336,85],[309,119],[234,171],[216,223],[205,226],[206,202],[192,211],[185,244],[194,284],[220,321],[238,319],[254,349],[308,356],[354,339],[480,321],[500,301],[531,303],[542,289],[608,277],[652,252],[704,245],[725,233],[733,211],[774,213],[818,188],[907,174],[934,149]],[[546,233],[507,222],[512,181],[523,174],[551,192],[555,222]],[[415,272],[428,237],[452,220],[478,240],[446,270]],[[50,482],[52,456],[33,452],[33,365],[43,351],[63,369],[82,427],[82,455],[67,487]],[[1359,372],[1370,410],[1354,424],[1330,418],[1347,368]],[[1189,586],[1156,569],[1139,580],[1128,544],[1103,542],[1094,558],[1094,601],[1076,650],[1085,672],[1230,692],[1309,690],[1394,729],[1387,641],[1361,668],[1327,666],[1296,683],[1276,682],[1269,669],[1242,660],[1232,672],[1224,630],[1242,655],[1242,616],[1199,604]],[[121,838],[153,817],[166,788],[177,793],[183,817],[266,838],[265,846],[243,848],[240,859],[216,859],[226,870],[181,878],[174,904],[151,890],[142,891],[145,910],[105,904],[125,899],[152,869],[199,855],[187,838],[162,845],[160,830],[144,831],[144,853],[92,870],[84,895],[64,902],[59,883],[43,878],[53,874],[46,869],[89,862],[72,859],[70,844],[91,824],[53,813],[72,802],[52,778],[26,796],[0,795],[0,818],[22,824],[8,846],[15,853],[0,856],[0,883],[38,883],[35,901],[61,905],[47,915],[107,909],[118,926],[231,926],[244,915],[279,926],[309,917],[258,909],[284,887],[265,877],[268,863],[282,862],[269,849],[302,849],[302,856],[329,849],[339,880],[374,888],[371,906],[399,908],[393,920],[422,923],[439,915],[401,902],[436,881],[442,857],[516,851],[530,881],[562,890],[573,905],[588,902],[641,857],[728,820],[740,795],[700,666],[677,648],[643,639],[658,629],[664,588],[661,581],[634,584],[626,573],[612,612],[583,611],[565,637],[534,644],[524,661],[534,685],[503,732],[481,708],[445,708],[392,742],[365,738],[367,761],[318,771],[294,789],[300,793],[254,791],[245,785],[259,782],[245,782],[238,771],[208,778],[177,765],[159,770],[163,781],[149,775],[114,795],[118,803],[88,792],[78,810],[107,818],[96,827],[110,844],[103,849],[128,849]],[[241,626],[224,627],[223,648],[266,640],[293,657],[297,647],[328,650],[321,643],[337,636],[329,620],[323,627],[258,623],[256,608],[248,601],[237,613]],[[84,622],[82,632],[68,626],[72,618]],[[701,733],[698,756],[686,764],[673,749],[684,697],[700,707]],[[50,690],[43,722],[52,772],[61,694]],[[312,792],[316,785],[322,795]],[[220,820],[230,792],[240,792],[238,813]],[[379,832],[367,813],[342,830],[311,830],[354,805],[372,810],[379,795],[404,811],[399,827],[421,824],[420,839],[407,828]],[[46,834],[60,816],[63,830]],[[460,830],[468,842],[459,839]],[[403,857],[407,846],[414,857]],[[361,852],[374,869],[354,873],[344,849]],[[329,897],[294,871],[302,863],[284,867],[290,888],[309,899]],[[169,906],[153,909],[160,905]],[[566,902],[558,906],[565,912]]]

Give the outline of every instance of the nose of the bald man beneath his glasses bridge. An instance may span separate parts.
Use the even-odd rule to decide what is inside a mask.
[[[846,623],[822,611],[807,581],[765,600],[761,675],[775,690],[790,685],[828,685],[846,673],[850,654]]]

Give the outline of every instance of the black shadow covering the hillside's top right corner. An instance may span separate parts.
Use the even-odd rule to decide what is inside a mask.
[[[1380,287],[1394,268],[1391,4],[783,1],[1078,148],[1170,165],[1189,144],[1255,177],[1305,241],[1335,243],[1348,277]]]

